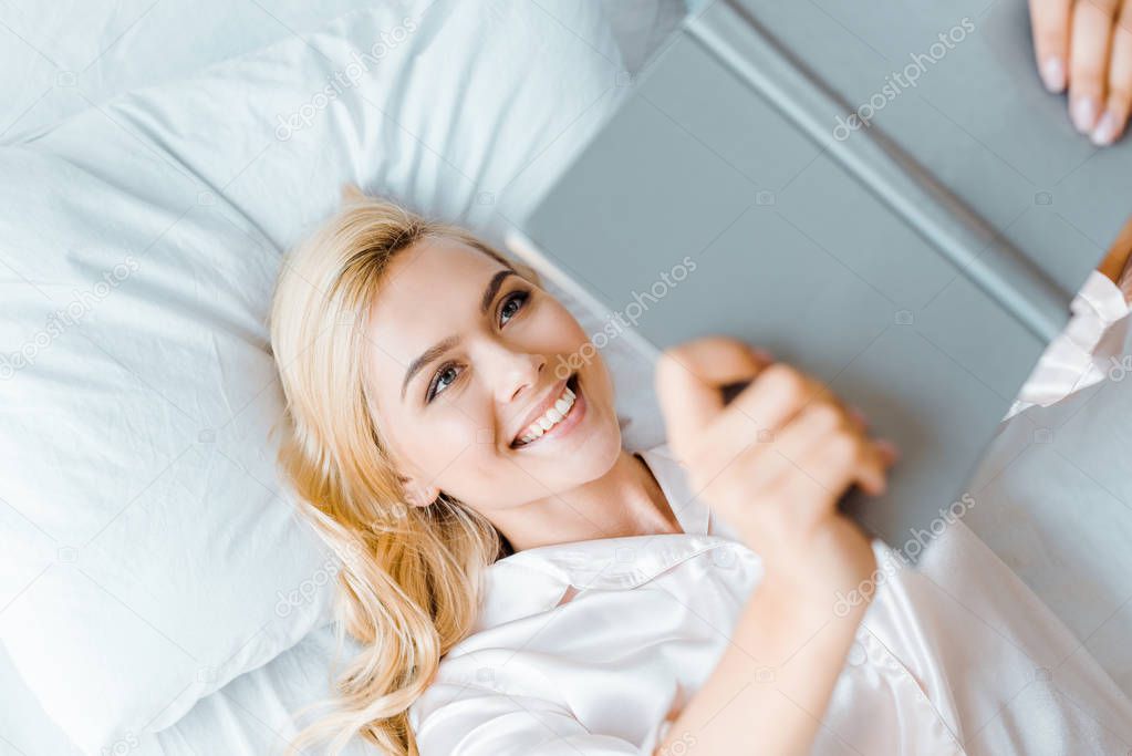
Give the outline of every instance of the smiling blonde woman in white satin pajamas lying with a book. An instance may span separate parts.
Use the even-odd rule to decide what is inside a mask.
[[[426,756],[1132,745],[1132,705],[961,523],[912,570],[839,514],[895,452],[821,384],[731,340],[670,350],[668,444],[632,454],[600,356],[556,371],[586,334],[538,284],[360,195],[290,257],[281,461],[366,646],[305,736]]]

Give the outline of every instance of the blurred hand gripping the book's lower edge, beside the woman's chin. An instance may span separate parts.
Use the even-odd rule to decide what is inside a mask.
[[[724,405],[720,387],[741,380],[752,383]],[[824,386],[741,342],[707,337],[664,352],[657,394],[692,490],[767,573],[827,586],[873,572],[868,539],[837,502],[854,483],[882,492],[895,453]]]

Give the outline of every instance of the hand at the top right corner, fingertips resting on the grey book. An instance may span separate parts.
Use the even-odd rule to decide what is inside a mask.
[[[1077,130],[1116,141],[1132,110],[1132,0],[1030,0],[1030,19],[1046,88],[1067,85]]]

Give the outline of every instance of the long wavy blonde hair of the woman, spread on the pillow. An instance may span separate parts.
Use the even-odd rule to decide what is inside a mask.
[[[484,568],[509,550],[482,515],[445,493],[428,507],[406,505],[368,398],[369,306],[395,256],[436,237],[539,283],[468,231],[348,188],[343,208],[289,255],[276,285],[271,340],[286,400],[280,464],[342,561],[338,648],[346,633],[365,646],[337,679],[337,697],[315,705],[329,713],[289,754],[321,740],[337,754],[355,736],[386,754],[417,754],[409,707],[471,629]]]

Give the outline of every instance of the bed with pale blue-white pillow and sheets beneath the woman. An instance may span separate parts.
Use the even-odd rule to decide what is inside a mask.
[[[0,9],[0,755],[282,750],[336,650],[268,440],[281,251],[348,181],[498,242],[684,12]],[[626,445],[660,443],[650,366],[604,356]],[[966,522],[1132,694],[1127,375],[1003,423]]]

